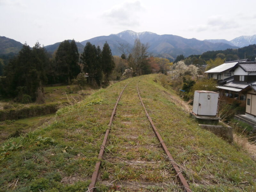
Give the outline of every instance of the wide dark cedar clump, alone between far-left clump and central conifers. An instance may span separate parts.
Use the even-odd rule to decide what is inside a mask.
[[[79,53],[75,40],[73,39],[71,43],[68,40],[61,42],[55,57],[59,82],[70,84],[80,73],[78,60]]]

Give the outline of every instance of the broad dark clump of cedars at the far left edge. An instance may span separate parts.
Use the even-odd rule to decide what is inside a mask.
[[[17,57],[10,60],[4,69],[0,92],[6,97],[17,97],[23,94],[36,100],[36,91],[47,82],[45,68],[49,63],[44,47],[37,42],[33,49],[24,44]]]

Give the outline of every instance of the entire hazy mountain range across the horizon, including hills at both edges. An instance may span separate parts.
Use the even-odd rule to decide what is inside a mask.
[[[126,30],[118,34],[111,34],[109,36],[98,36],[92,39],[87,39],[82,42],[76,42],[78,51],[83,52],[84,46],[89,41],[102,49],[104,43],[107,41],[113,55],[120,56],[118,51],[120,44],[132,47],[134,40],[139,38],[141,43],[149,43],[148,52],[151,55],[164,57],[168,59],[175,59],[178,55],[183,54],[185,57],[192,54],[202,54],[206,51],[216,51],[225,49],[236,49],[244,47],[249,44],[256,44],[256,35],[240,36],[231,41],[225,39],[205,39],[203,41],[192,38],[187,39],[176,35],[158,35],[152,32],[137,33],[131,30]],[[47,45],[45,49],[49,53],[53,53],[58,49],[60,42]],[[0,54],[9,52],[19,52],[22,44],[13,39],[0,36]]]

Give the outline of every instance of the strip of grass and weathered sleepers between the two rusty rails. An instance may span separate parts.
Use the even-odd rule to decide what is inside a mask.
[[[175,184],[176,173],[172,170],[170,162],[165,161],[166,155],[149,126],[138,97],[137,81],[138,78],[132,79],[119,101],[103,157],[103,174],[98,182],[101,188],[97,191],[183,191]],[[113,187],[104,188],[104,183],[112,183]],[[115,188],[125,183],[144,183],[147,187]],[[155,186],[150,186],[152,183]]]

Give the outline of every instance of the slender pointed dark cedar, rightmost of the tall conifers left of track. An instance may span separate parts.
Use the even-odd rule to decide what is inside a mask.
[[[108,77],[111,74],[112,70],[115,68],[115,63],[113,61],[113,56],[111,49],[106,41],[103,45],[101,52],[101,62],[102,62],[102,71],[104,73],[104,82],[108,84]]]

